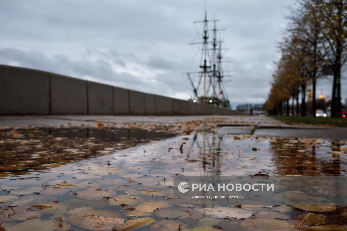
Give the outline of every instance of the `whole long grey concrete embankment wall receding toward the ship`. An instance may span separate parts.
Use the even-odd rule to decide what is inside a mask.
[[[0,65],[0,115],[234,115],[242,112]]]

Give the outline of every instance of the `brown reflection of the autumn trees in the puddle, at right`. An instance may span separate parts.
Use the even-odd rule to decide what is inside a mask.
[[[345,174],[346,161],[337,154],[340,152],[338,141],[273,138],[270,139],[269,151],[273,154],[272,160],[279,174],[304,176]]]

